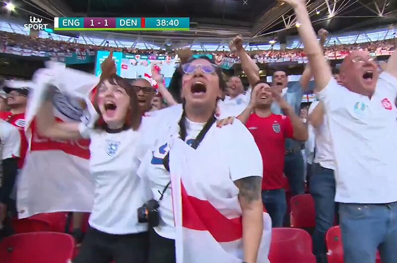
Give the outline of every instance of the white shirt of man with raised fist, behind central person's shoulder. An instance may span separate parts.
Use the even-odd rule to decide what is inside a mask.
[[[235,98],[231,98],[226,96],[225,99],[218,101],[218,107],[220,110],[220,119],[224,119],[227,117],[237,117],[239,116],[245,108],[247,108],[250,103],[251,93],[246,92],[242,93]]]

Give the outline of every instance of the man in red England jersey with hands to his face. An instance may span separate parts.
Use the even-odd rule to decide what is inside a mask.
[[[271,113],[273,100],[285,115]],[[283,175],[285,138],[305,141],[307,127],[281,94],[262,81],[255,85],[250,104],[238,119],[252,133],[262,155],[262,201],[272,226],[282,227],[287,208],[284,190],[287,181]]]

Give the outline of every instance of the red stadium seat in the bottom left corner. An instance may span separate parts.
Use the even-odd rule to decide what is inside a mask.
[[[17,234],[0,242],[0,259],[1,263],[67,263],[74,245],[74,239],[64,233]]]

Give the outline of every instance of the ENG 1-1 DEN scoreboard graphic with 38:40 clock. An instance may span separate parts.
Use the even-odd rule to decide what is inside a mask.
[[[54,30],[188,31],[189,28],[189,17],[54,17]]]

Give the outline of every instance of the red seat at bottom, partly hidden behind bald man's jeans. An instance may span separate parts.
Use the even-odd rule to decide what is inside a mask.
[[[339,226],[333,226],[327,231],[326,241],[328,248],[328,263],[344,263],[342,238]],[[379,252],[376,255],[376,263],[381,263]]]

